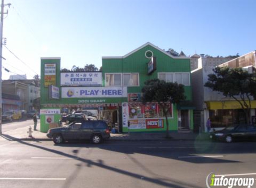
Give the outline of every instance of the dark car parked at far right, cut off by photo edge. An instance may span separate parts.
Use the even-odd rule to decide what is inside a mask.
[[[233,140],[256,139],[256,126],[254,125],[232,125],[220,131],[210,133],[213,140],[222,140],[231,143]]]

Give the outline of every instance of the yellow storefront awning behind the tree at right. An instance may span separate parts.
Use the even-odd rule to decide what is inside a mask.
[[[249,104],[248,101],[246,102]],[[206,106],[209,110],[242,109],[242,106],[237,101],[207,101]],[[256,108],[256,100],[251,101],[251,108]]]

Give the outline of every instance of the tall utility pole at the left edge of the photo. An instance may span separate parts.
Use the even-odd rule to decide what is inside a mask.
[[[4,14],[8,14],[8,11],[4,13],[4,7],[11,6],[10,3],[4,4],[4,0],[2,0],[1,4],[1,23],[0,23],[0,135],[2,135],[2,59],[3,59],[3,22],[4,22]]]

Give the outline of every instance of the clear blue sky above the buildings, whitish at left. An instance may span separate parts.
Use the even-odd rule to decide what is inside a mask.
[[[61,67],[101,66],[146,42],[186,55],[256,50],[255,0],[5,0],[3,79],[40,74],[40,57]]]

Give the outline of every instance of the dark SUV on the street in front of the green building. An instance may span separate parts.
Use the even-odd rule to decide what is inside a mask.
[[[109,128],[105,121],[73,122],[66,127],[49,129],[48,138],[53,138],[56,144],[64,140],[90,139],[92,143],[101,143],[103,139],[110,137]]]

